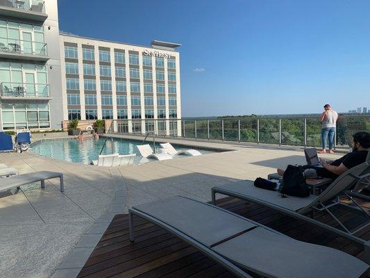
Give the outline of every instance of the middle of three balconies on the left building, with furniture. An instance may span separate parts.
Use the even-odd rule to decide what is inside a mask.
[[[49,60],[46,43],[10,38],[0,38],[0,58],[40,62]]]

